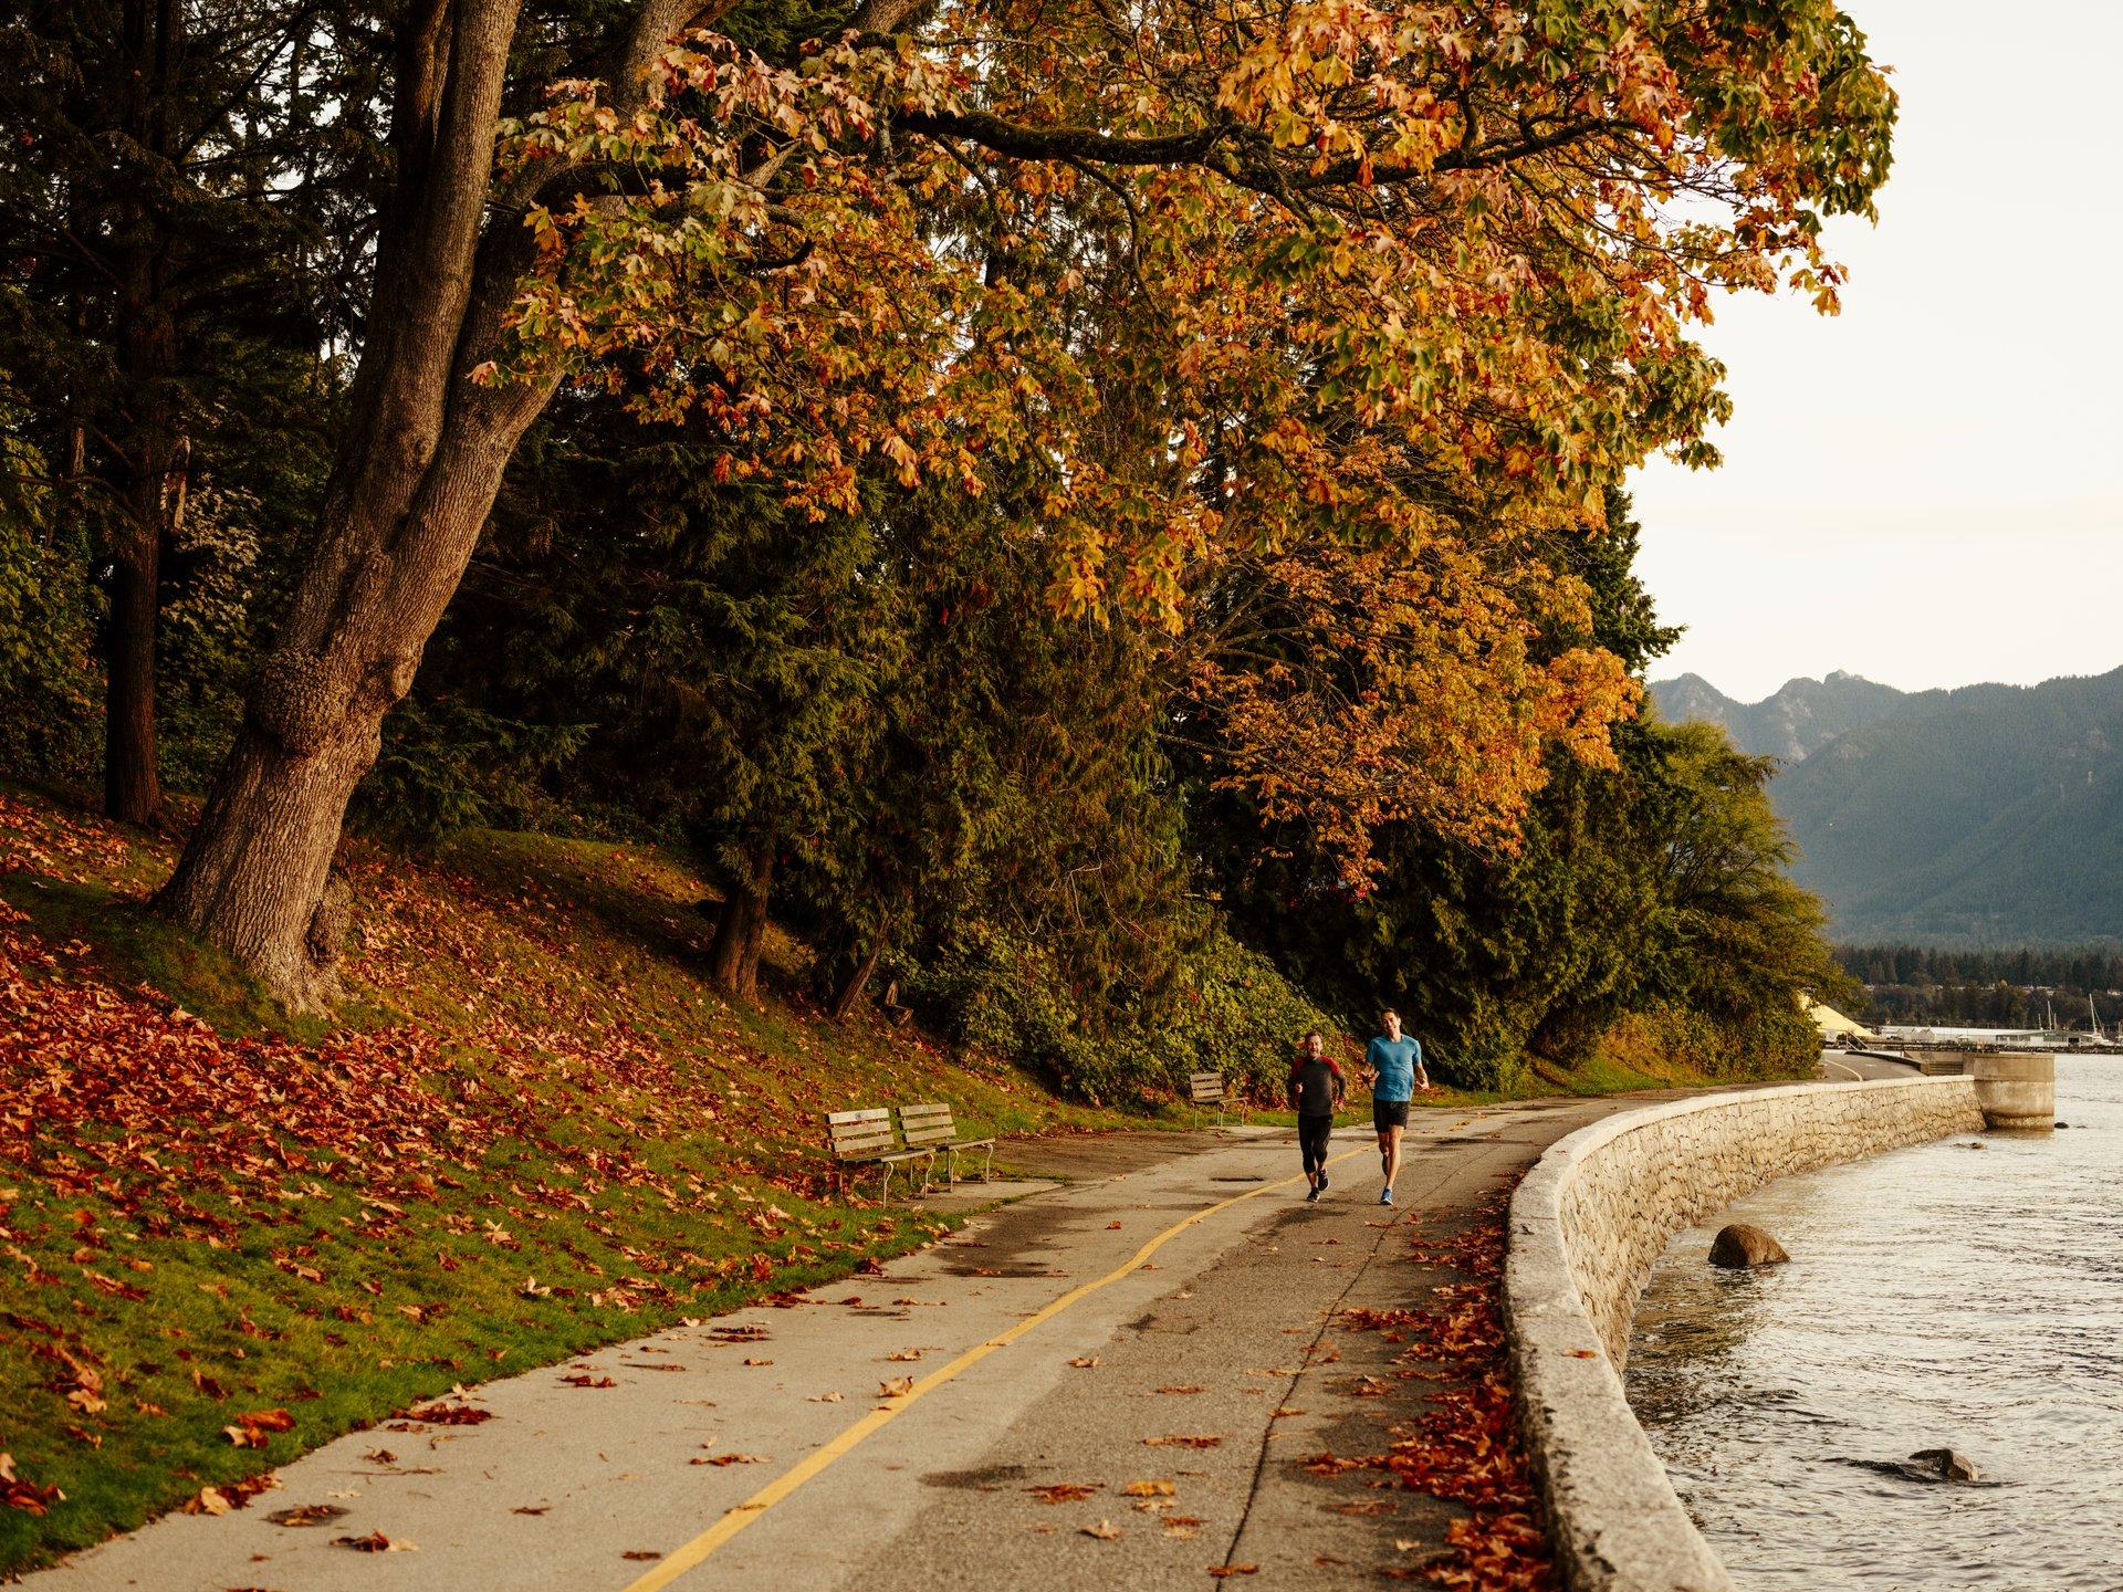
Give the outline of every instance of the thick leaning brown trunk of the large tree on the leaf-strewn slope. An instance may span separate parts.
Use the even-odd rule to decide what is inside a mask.
[[[242,730],[157,898],[297,1008],[338,993],[321,902],[346,802],[471,560],[510,454],[558,386],[556,374],[471,382],[505,350],[505,312],[533,259],[512,204],[495,206],[482,238],[518,11],[518,0],[425,0],[399,23],[397,174],[350,427]],[[635,13],[605,74],[622,108],[684,11],[650,0]]]

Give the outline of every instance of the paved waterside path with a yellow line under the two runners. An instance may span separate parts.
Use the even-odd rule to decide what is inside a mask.
[[[1425,1401],[1391,1375],[1399,1346],[1335,1312],[1420,1299],[1442,1278],[1410,1257],[1418,1231],[1448,1235],[1546,1144],[1650,1097],[1416,1112],[1397,1212],[1359,1129],[1318,1206],[1289,1129],[1013,1144],[1078,1180],[800,1303],[490,1382],[490,1422],[355,1433],[248,1509],[166,1516],[25,1584],[1008,1592],[1410,1569],[1450,1505],[1301,1467],[1382,1452]],[[1083,1494],[1034,1490],[1057,1486]],[[293,1505],[346,1513],[270,1522]],[[367,1533],[397,1552],[333,1543]]]

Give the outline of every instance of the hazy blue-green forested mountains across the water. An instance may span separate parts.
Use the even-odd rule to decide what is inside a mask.
[[[1839,940],[2123,938],[2123,669],[1928,692],[1834,673],[1760,703],[1681,675],[1652,698],[1783,762],[1792,877]]]

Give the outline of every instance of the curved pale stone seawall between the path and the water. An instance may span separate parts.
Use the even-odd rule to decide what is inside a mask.
[[[1970,1078],[1802,1083],[1618,1112],[1548,1148],[1512,1197],[1505,1312],[1571,1592],[1732,1588],[1622,1392],[1667,1240],[1775,1178],[1981,1127]]]

